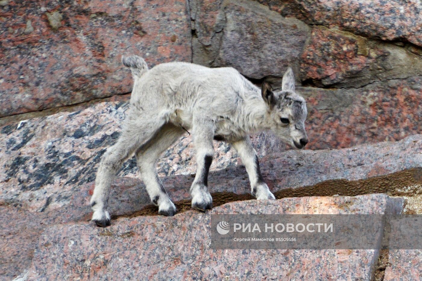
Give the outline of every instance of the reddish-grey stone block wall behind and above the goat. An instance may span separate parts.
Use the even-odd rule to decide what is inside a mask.
[[[128,93],[120,56],[138,54],[276,87],[292,66],[309,148],[399,140],[422,125],[421,11],[398,0],[3,0],[0,116]]]

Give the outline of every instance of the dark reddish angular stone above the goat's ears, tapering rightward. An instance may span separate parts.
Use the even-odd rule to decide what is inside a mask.
[[[360,88],[417,75],[422,75],[417,54],[334,28],[314,27],[300,58],[300,80],[320,87]]]

